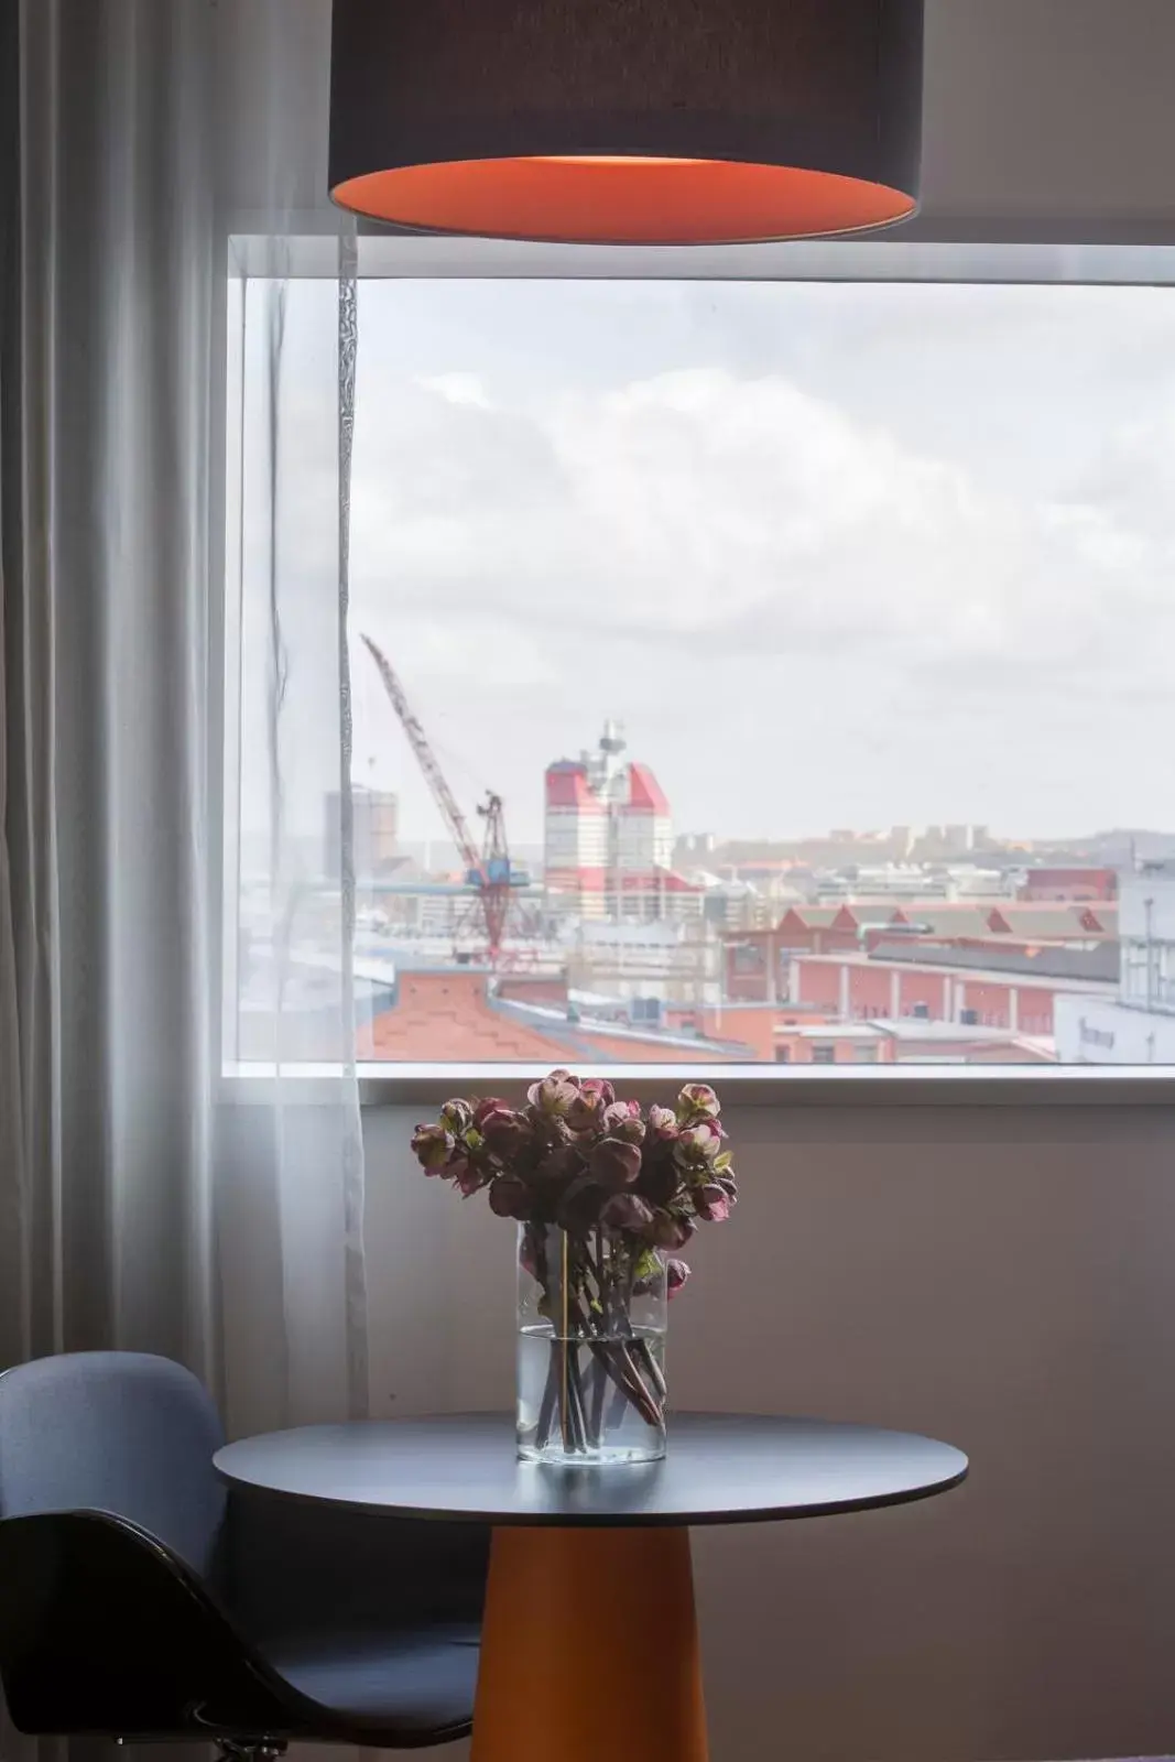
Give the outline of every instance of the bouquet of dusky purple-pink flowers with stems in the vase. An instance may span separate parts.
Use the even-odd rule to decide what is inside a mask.
[[[573,1454],[599,1445],[615,1420],[608,1388],[613,1406],[664,1431],[664,1373],[631,1323],[632,1302],[661,1286],[675,1297],[689,1277],[680,1251],[736,1203],[719,1112],[708,1084],[685,1084],[675,1108],[643,1110],[602,1078],[551,1071],[521,1108],[456,1099],[418,1126],[412,1151],[428,1175],[465,1198],[484,1191],[499,1218],[521,1225],[521,1267],[551,1337],[539,1448],[555,1418]]]

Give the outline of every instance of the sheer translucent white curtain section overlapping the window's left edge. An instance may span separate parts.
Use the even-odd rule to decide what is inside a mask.
[[[217,19],[234,682],[224,1045],[247,1073],[225,1114],[220,1239],[240,1424],[368,1408],[347,655],[359,338],[354,229],[326,197],[329,12],[329,0],[238,0]],[[299,1061],[344,1068],[312,1107]],[[271,1277],[257,1276],[257,1216],[273,1225]]]

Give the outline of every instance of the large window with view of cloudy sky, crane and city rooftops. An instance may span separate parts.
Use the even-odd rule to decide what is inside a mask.
[[[971,280],[958,250],[905,248],[911,282],[361,280],[365,1061],[786,1062],[784,1020],[856,1018],[895,1024],[898,1064],[1175,1064],[1152,763],[1175,652],[1166,255],[1090,252],[1082,282],[1029,285],[1015,254]],[[307,433],[333,421],[312,361],[335,301],[329,278],[289,287]],[[247,460],[248,300],[240,324]],[[245,550],[245,631],[257,592]],[[241,754],[225,922],[248,1059],[277,955]],[[307,1059],[329,1055],[338,825],[315,765],[308,742],[284,999]],[[964,1008],[967,983],[1008,1006]]]

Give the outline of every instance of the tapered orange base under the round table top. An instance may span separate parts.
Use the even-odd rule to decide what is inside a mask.
[[[472,1762],[706,1762],[689,1529],[495,1529]]]

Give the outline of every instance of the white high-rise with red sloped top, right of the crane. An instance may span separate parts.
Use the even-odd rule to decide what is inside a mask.
[[[583,918],[662,918],[673,892],[673,819],[617,722],[594,752],[546,772],[544,872],[551,906]]]

